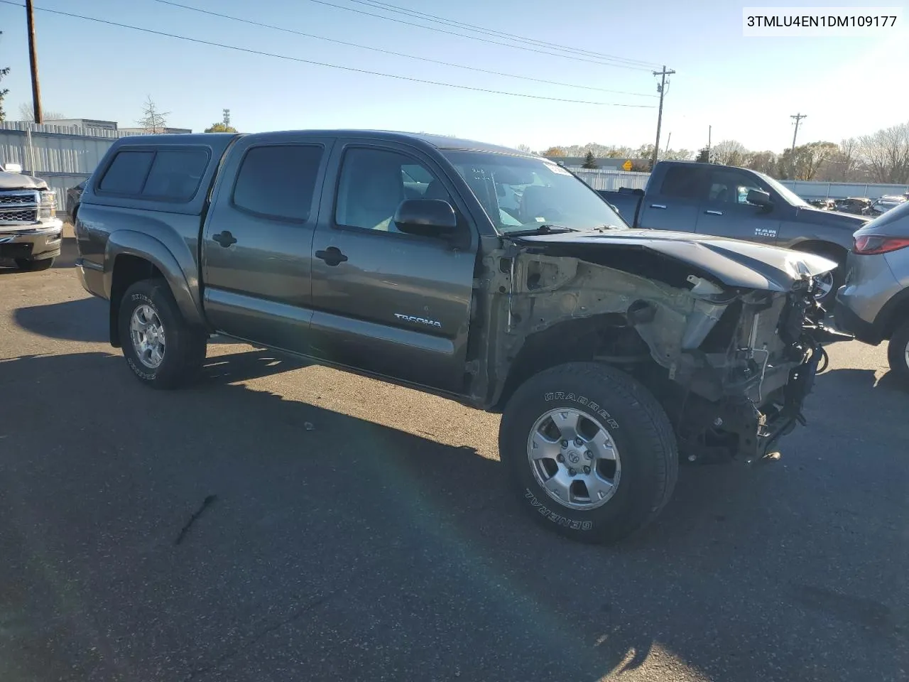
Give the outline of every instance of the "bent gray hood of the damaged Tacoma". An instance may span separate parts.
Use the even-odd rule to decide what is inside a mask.
[[[668,230],[618,229],[511,237],[550,256],[584,259],[590,249],[647,249],[682,261],[726,286],[791,291],[795,282],[833,270],[836,263],[777,246]]]

